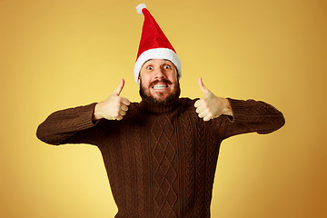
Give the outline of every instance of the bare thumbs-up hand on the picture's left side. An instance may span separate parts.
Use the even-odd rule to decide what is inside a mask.
[[[93,120],[102,118],[107,120],[122,120],[128,105],[131,104],[127,98],[119,96],[124,88],[124,79],[104,102],[98,103],[94,108]]]

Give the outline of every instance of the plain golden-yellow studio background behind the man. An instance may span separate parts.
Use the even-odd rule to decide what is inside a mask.
[[[47,115],[122,95],[139,101],[139,1],[0,0],[0,217],[104,218],[116,207],[99,150],[35,137]],[[253,98],[274,134],[223,142],[212,217],[327,217],[324,0],[145,1],[183,63],[182,96]]]

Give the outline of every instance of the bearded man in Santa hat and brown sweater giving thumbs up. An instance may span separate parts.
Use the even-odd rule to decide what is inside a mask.
[[[222,141],[269,134],[281,112],[254,100],[221,98],[203,85],[201,100],[180,98],[180,60],[144,8],[134,67],[141,103],[121,97],[124,79],[104,102],[51,114],[37,130],[47,144],[94,144],[103,154],[115,217],[210,217],[213,177]]]

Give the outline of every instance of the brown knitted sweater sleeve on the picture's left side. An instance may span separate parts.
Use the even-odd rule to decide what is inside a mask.
[[[71,143],[91,143],[87,132],[97,124],[92,121],[94,114],[94,104],[69,108],[50,114],[45,122],[40,124],[36,131],[36,136],[46,144],[71,144]],[[89,130],[89,131],[87,131]],[[78,134],[82,131],[85,134]]]

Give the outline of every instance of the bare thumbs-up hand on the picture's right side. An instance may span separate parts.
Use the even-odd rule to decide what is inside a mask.
[[[199,87],[203,92],[203,99],[197,100],[194,104],[196,113],[199,114],[203,121],[209,121],[221,114],[233,115],[232,107],[226,98],[217,97],[205,85],[200,77],[198,80]]]

